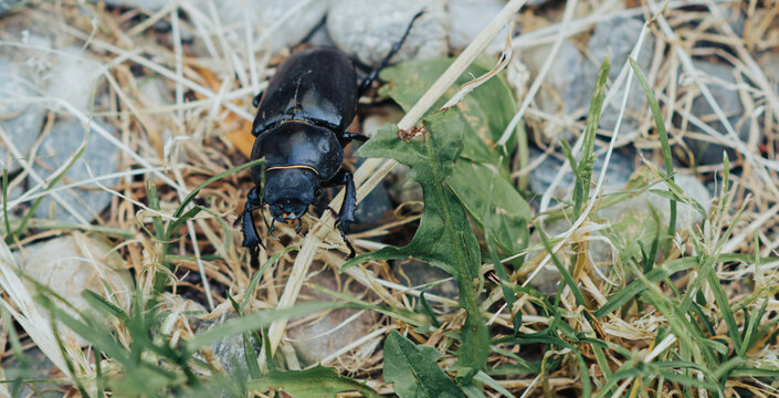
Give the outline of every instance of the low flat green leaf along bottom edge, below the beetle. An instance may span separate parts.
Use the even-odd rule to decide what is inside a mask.
[[[365,397],[378,397],[370,387],[336,373],[335,368],[317,366],[305,370],[271,370],[260,380],[249,383],[253,390],[278,390],[295,398],[336,397],[339,392],[359,391]]]

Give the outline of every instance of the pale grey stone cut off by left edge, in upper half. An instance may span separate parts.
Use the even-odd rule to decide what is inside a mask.
[[[22,70],[0,59],[0,129],[9,140],[0,139],[0,164],[10,172],[19,170],[21,165],[8,150],[8,144],[13,144],[19,154],[27,157],[43,125],[43,106],[19,100],[35,96],[38,94]]]

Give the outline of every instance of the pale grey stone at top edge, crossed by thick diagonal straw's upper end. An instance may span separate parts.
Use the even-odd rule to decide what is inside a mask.
[[[450,0],[449,44],[462,50],[482,32],[505,6],[499,0]],[[487,52],[499,53],[506,41],[508,27],[495,35]]]

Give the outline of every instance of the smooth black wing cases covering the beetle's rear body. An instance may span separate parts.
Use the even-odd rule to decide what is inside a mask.
[[[308,49],[290,56],[265,90],[252,134],[287,121],[305,121],[344,132],[355,118],[357,75],[335,49]]]

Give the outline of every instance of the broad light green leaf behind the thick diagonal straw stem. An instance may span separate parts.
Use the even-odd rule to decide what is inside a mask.
[[[381,94],[391,96],[404,111],[409,111],[452,62],[453,59],[410,61],[388,67],[381,72],[381,80],[391,83],[382,88]],[[460,85],[487,73],[491,64],[486,60],[471,64],[430,109],[440,109]],[[516,112],[514,94],[508,85],[499,77],[491,78],[469,93],[454,108],[459,111],[465,128],[460,155],[475,163],[498,164],[499,153],[495,143]],[[508,158],[505,158],[504,165],[507,161]]]

